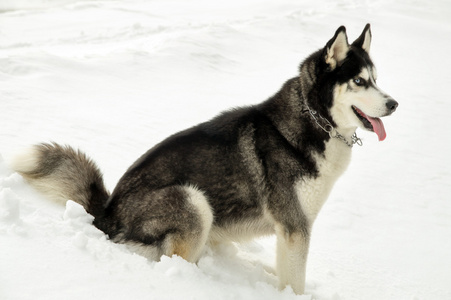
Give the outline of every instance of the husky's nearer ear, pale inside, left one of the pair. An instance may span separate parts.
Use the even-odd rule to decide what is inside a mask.
[[[335,69],[346,58],[348,51],[349,44],[346,28],[341,26],[335,32],[334,37],[326,44],[325,60],[330,70]]]

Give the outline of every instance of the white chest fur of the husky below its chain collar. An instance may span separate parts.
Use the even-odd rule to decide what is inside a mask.
[[[326,202],[335,181],[348,167],[351,148],[337,139],[331,139],[326,144],[324,156],[315,154],[314,158],[319,176],[300,178],[294,186],[302,210],[310,224],[313,224],[318,212]]]

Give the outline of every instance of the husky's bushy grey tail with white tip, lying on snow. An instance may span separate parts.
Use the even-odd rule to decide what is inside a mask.
[[[12,167],[47,198],[73,200],[94,217],[103,214],[109,194],[102,173],[79,150],[56,143],[35,145],[16,157]]]

